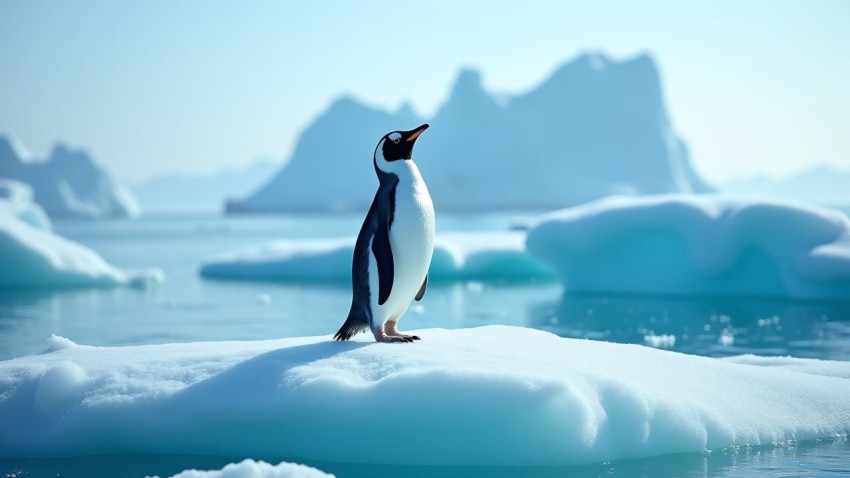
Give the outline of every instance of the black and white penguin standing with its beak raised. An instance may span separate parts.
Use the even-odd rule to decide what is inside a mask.
[[[413,145],[428,124],[385,134],[372,155],[380,182],[366,214],[351,264],[348,318],[334,335],[348,340],[372,330],[378,342],[413,342],[396,324],[411,302],[422,300],[434,253],[434,204],[413,162]]]

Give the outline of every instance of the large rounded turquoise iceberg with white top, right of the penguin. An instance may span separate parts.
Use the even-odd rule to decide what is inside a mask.
[[[850,299],[850,220],[802,204],[612,197],[544,216],[526,244],[571,292]]]

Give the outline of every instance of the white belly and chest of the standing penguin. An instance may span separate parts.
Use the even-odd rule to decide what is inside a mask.
[[[377,264],[372,254],[369,257],[370,299],[377,326],[390,319],[398,320],[404,314],[425,281],[434,253],[434,205],[416,165],[412,161],[405,163],[411,166],[410,174],[399,175],[395,214],[389,234],[394,265],[393,287],[383,305],[378,305],[377,300]]]

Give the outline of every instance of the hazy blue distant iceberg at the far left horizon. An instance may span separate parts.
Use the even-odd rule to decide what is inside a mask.
[[[86,152],[58,144],[46,161],[25,161],[21,148],[0,135],[0,178],[28,184],[50,217],[130,217],[138,204]]]

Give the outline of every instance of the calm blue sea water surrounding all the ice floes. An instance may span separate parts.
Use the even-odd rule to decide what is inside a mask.
[[[446,215],[441,231],[504,229],[518,215]],[[90,345],[332,335],[348,311],[347,284],[211,281],[202,260],[281,238],[352,236],[359,215],[164,217],[55,224],[123,268],[159,267],[146,290],[0,291],[0,360],[38,353],[51,334]],[[520,221],[521,222],[521,221]],[[557,283],[429,284],[400,328],[510,324],[567,337],[643,343],[708,356],[756,353],[850,360],[850,304],[764,299],[570,295]],[[314,463],[339,476],[824,476],[850,469],[845,440],[726,450],[570,469],[361,467]],[[259,457],[253,457],[259,458]],[[168,475],[240,457],[110,456],[0,460],[19,476]],[[267,458],[275,461],[274,457]]]

